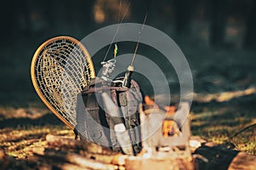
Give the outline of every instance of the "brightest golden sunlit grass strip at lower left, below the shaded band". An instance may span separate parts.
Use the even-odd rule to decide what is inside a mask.
[[[47,134],[72,136],[73,131],[65,126],[5,128],[0,133],[1,148],[17,159],[27,160],[32,156],[32,148],[47,145]]]

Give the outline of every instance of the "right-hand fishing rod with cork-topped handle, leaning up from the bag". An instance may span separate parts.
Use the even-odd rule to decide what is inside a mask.
[[[131,59],[131,65],[128,65],[128,67],[126,69],[125,78],[124,78],[123,83],[122,83],[123,88],[130,88],[131,87],[131,74],[134,71],[134,66],[133,65],[134,65],[136,55],[137,55],[137,49],[138,49],[139,43],[140,43],[142,35],[143,35],[143,29],[144,29],[147,17],[148,17],[148,13],[145,14],[142,29],[141,29],[141,31],[139,31],[139,37],[138,37],[136,48],[134,50],[134,53],[133,53],[133,56],[132,56],[132,59]]]

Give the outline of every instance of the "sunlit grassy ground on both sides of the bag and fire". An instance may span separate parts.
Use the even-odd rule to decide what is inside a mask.
[[[256,155],[256,128],[251,127],[242,133],[232,136],[242,128],[256,123],[256,111],[253,103],[256,94],[231,99],[229,102],[194,102],[191,114],[192,134],[209,142],[235,146]],[[32,156],[32,148],[46,146],[47,134],[69,136],[74,138],[73,131],[41,108],[0,108],[0,145],[9,156],[27,160]],[[234,145],[233,145],[234,144]]]

